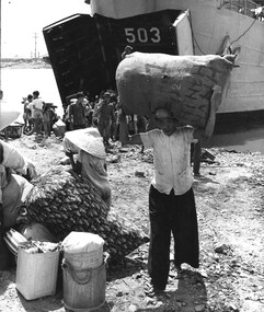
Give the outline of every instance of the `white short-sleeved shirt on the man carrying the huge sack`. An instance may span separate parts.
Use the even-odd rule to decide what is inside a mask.
[[[169,195],[173,188],[175,195],[182,195],[192,187],[193,130],[186,126],[176,128],[171,136],[160,129],[140,134],[145,148],[153,149],[154,176],[151,184],[160,193]]]

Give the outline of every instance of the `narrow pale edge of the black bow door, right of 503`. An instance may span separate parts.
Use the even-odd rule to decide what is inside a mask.
[[[173,26],[176,35],[177,54],[194,55],[190,11],[182,12]]]

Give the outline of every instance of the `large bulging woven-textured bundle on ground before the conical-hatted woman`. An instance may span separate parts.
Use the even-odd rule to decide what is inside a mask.
[[[44,223],[58,240],[72,231],[99,234],[113,261],[148,240],[131,221],[111,212],[94,186],[71,170],[54,167],[32,183],[26,203],[28,219]]]

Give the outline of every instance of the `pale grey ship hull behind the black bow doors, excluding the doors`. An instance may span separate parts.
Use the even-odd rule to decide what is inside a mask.
[[[107,3],[106,3],[107,2]],[[218,54],[223,39],[230,37],[231,47],[241,47],[239,68],[232,72],[227,100],[219,113],[264,109],[264,22],[225,8],[223,1],[211,0],[92,0],[92,13],[124,19],[154,11],[190,10],[194,54]],[[233,1],[236,4],[236,1]],[[254,7],[250,1],[248,12]]]

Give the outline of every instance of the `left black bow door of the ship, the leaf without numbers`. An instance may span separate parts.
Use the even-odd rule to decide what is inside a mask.
[[[95,20],[74,14],[43,30],[62,103],[78,91],[99,94],[107,84]]]

